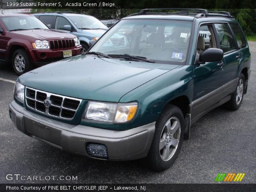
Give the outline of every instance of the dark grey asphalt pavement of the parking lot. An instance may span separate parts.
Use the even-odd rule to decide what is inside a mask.
[[[242,183],[256,183],[256,42],[249,45],[252,72],[240,109],[219,107],[202,117],[192,126],[175,164],[157,173],[139,160],[76,156],[19,132],[8,113],[18,76],[0,63],[0,183],[215,183],[218,173],[245,173]],[[16,180],[14,174],[25,180]],[[77,179],[60,180],[60,176]]]

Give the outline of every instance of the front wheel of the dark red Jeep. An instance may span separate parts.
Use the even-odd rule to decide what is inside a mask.
[[[12,67],[18,75],[22,75],[30,70],[30,61],[26,51],[18,49],[12,55]]]

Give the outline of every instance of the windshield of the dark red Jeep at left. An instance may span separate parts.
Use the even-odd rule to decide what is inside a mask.
[[[10,16],[2,17],[4,25],[9,31],[48,29],[48,27],[34,16]]]

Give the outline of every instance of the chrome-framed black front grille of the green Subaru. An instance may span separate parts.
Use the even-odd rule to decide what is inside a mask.
[[[76,115],[76,111],[81,99],[61,96],[45,91],[36,90],[26,87],[26,106],[36,112],[52,116],[56,118],[72,120]],[[51,105],[46,107],[45,100],[50,100]]]

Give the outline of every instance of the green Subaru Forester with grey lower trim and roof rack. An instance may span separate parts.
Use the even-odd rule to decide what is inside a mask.
[[[241,106],[251,62],[228,12],[174,10],[141,10],[86,54],[20,76],[10,103],[18,130],[75,154],[169,168],[200,117]],[[120,34],[127,41],[112,46]]]

